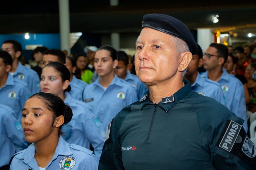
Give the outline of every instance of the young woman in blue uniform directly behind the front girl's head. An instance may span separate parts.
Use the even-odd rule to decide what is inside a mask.
[[[68,93],[70,91],[69,79],[70,73],[63,64],[51,62],[43,68],[40,81],[41,92],[58,95],[71,107],[73,118],[67,125],[63,126],[63,132],[65,132],[63,138],[68,143],[74,143],[87,149],[90,149],[91,143],[99,161],[105,130],[102,129],[90,106],[75,100]]]

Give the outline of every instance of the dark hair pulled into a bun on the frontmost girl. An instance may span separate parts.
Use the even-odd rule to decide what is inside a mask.
[[[53,112],[52,126],[56,117],[58,116],[64,117],[64,123],[59,127],[59,132],[58,132],[59,136],[63,135],[63,132],[61,131],[62,126],[70,122],[73,116],[73,111],[70,108],[70,106],[65,105],[65,103],[60,97],[52,93],[43,93],[43,92],[35,93],[29,98],[34,98],[34,97],[42,99],[46,105],[46,108],[49,111]]]

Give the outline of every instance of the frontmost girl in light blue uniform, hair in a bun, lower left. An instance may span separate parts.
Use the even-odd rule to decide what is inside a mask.
[[[60,135],[72,119],[72,109],[57,95],[36,93],[22,110],[21,124],[27,149],[14,154],[10,169],[97,169],[92,151],[68,144]]]

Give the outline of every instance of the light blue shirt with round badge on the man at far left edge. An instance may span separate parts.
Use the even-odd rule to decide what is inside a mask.
[[[0,89],[0,103],[13,109],[19,123],[22,117],[21,110],[30,96],[31,92],[28,89],[27,84],[13,78],[9,73],[6,84]]]

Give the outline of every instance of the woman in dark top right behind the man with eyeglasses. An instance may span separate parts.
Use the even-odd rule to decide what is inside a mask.
[[[243,83],[243,88],[245,91],[244,93],[245,103],[248,104],[250,102],[250,95],[249,95],[248,85],[247,85],[248,81],[246,80],[245,77],[235,72],[235,68],[237,67],[237,61],[238,61],[237,57],[233,56],[232,54],[229,54],[227,62],[224,64],[223,67],[227,70],[229,74],[233,74],[236,78],[238,78]]]

